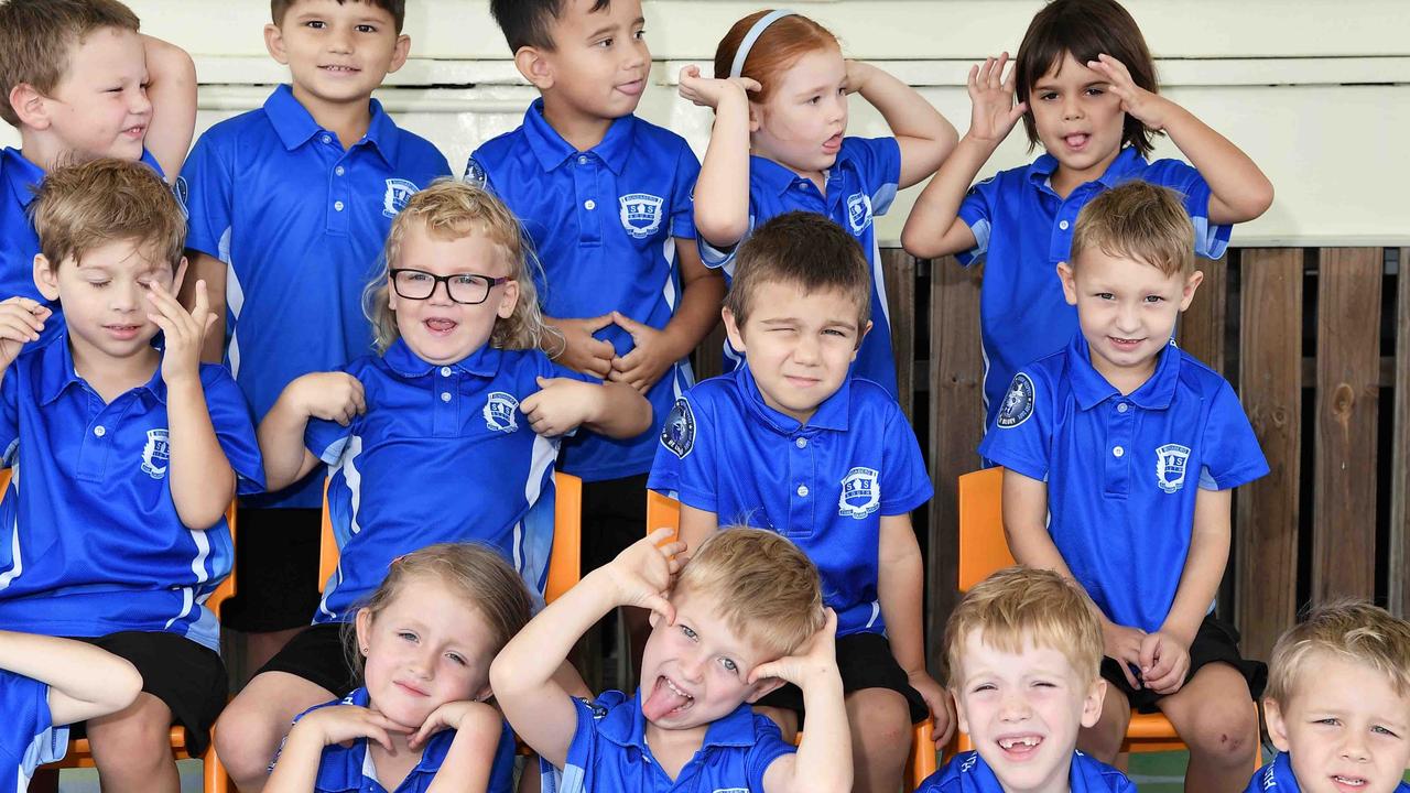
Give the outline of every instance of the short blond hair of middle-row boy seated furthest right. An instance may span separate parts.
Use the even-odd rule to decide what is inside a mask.
[[[1167,278],[1194,272],[1194,224],[1180,195],[1139,179],[1111,188],[1077,213],[1070,264],[1093,248],[1142,261]]]

